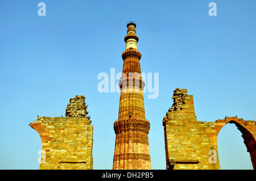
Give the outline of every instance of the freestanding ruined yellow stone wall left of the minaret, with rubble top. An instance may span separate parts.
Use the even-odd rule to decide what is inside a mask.
[[[38,117],[29,124],[42,140],[40,170],[93,169],[93,125],[84,100],[84,96],[70,100],[66,109],[70,117]]]

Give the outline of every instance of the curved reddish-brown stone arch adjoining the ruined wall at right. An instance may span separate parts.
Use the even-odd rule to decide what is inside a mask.
[[[253,169],[256,170],[256,125],[255,121],[244,121],[243,119],[238,119],[238,117],[225,117],[225,120],[215,121],[216,133],[220,132],[224,125],[230,123],[235,124],[237,129],[242,133],[243,142],[247,148],[247,152],[250,153],[251,162],[253,164]]]

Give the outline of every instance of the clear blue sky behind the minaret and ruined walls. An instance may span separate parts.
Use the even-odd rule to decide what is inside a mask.
[[[38,3],[46,16],[38,16]],[[217,16],[209,16],[210,2]],[[94,127],[94,169],[112,169],[119,93],[100,93],[101,72],[122,71],[126,23],[137,23],[144,73],[159,73],[159,96],[144,94],[152,169],[165,169],[162,120],[179,87],[198,121],[256,120],[256,1],[0,0],[0,169],[39,169],[37,115],[65,115],[84,95]],[[115,80],[117,83],[118,80]],[[221,169],[253,169],[240,131],[218,135]]]

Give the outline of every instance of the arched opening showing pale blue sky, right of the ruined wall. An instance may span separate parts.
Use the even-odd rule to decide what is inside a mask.
[[[236,121],[229,123],[221,128],[217,136],[220,168],[221,170],[252,170],[253,163],[250,153],[247,152],[247,141],[253,136]]]

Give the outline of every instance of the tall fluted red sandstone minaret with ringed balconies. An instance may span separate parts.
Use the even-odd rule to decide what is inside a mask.
[[[141,52],[138,51],[136,24],[127,23],[125,52],[122,53],[123,71],[119,81],[121,90],[118,120],[114,122],[114,170],[151,169],[148,131],[150,122],[145,119],[141,77]]]

